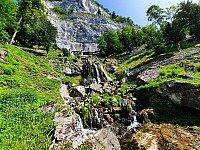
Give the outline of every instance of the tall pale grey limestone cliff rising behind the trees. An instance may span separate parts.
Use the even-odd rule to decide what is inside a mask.
[[[117,30],[124,26],[108,18],[109,14],[91,0],[43,1],[47,15],[57,27],[56,44],[73,52],[96,52],[98,37],[105,31]],[[52,11],[61,7],[68,15],[58,15]],[[100,10],[101,15],[97,15]]]

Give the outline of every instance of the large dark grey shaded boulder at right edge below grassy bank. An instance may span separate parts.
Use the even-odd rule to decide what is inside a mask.
[[[199,84],[173,80],[160,85],[158,91],[176,104],[200,110]]]

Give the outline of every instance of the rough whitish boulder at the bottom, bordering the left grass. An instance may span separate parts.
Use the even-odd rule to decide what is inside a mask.
[[[54,140],[50,148],[76,149],[89,139],[78,115],[68,116],[67,110],[63,110],[55,114],[54,121],[58,126],[55,128]]]

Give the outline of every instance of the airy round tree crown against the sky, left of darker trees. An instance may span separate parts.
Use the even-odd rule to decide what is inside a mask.
[[[152,5],[146,12],[148,21],[152,21],[154,24],[161,25],[161,23],[164,21],[164,12],[165,11],[158,5]]]

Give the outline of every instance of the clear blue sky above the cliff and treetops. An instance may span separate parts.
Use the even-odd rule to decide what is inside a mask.
[[[130,17],[135,24],[140,26],[148,25],[146,11],[147,9],[156,4],[161,8],[167,8],[176,5],[184,0],[96,0],[111,12],[115,11],[116,14]],[[199,0],[192,0],[198,2]]]

